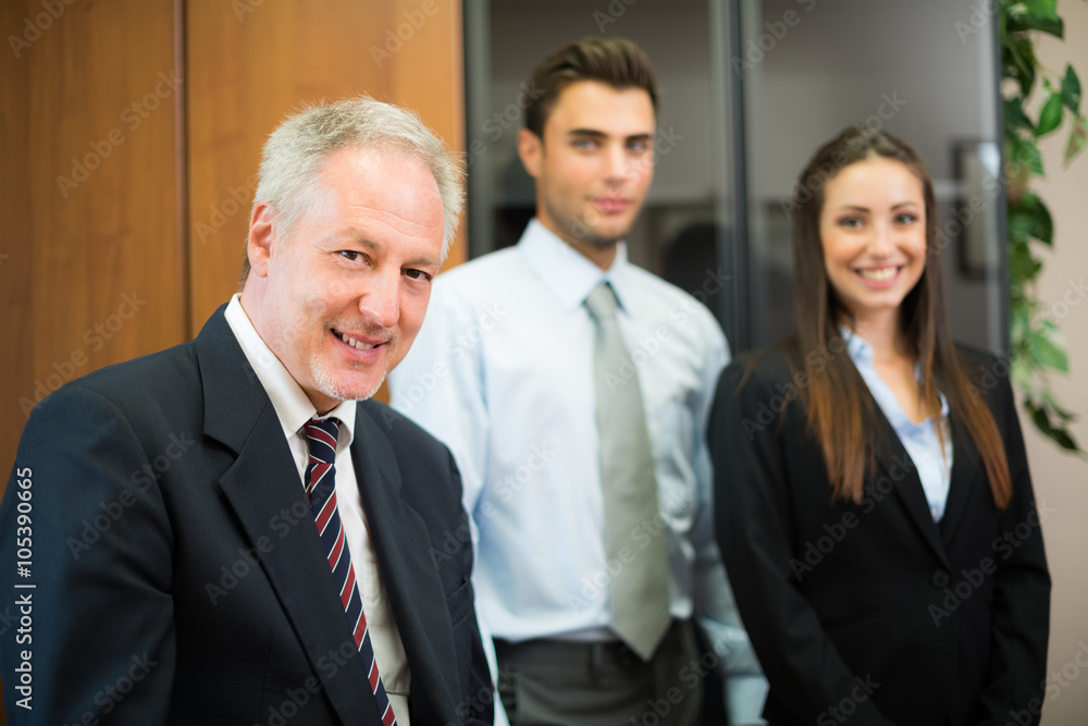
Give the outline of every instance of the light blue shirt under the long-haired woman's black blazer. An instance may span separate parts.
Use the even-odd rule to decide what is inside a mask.
[[[939,426],[944,439],[943,445],[937,435],[938,423],[930,416],[920,423],[915,423],[903,410],[891,387],[873,367],[873,346],[861,335],[840,328],[842,340],[846,343],[850,359],[854,361],[857,372],[862,374],[865,384],[883,411],[891,428],[895,430],[903,448],[911,456],[922,479],[922,488],[926,491],[929,513],[934,521],[940,521],[944,516],[944,505],[949,499],[949,487],[952,482],[952,431],[949,427],[949,402],[944,394],[938,392],[941,399]],[[917,372],[917,371],[916,371]]]

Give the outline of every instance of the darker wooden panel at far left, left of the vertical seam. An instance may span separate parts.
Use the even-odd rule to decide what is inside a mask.
[[[7,475],[44,393],[184,340],[185,291],[172,0],[2,4],[4,36],[33,38],[3,51]]]

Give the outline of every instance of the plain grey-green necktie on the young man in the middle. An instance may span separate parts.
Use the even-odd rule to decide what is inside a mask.
[[[669,573],[657,475],[638,369],[620,337],[616,295],[601,283],[585,307],[596,327],[594,381],[601,439],[613,629],[648,661],[669,627]]]

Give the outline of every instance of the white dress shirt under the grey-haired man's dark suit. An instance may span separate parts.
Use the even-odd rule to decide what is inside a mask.
[[[243,309],[238,295],[235,295],[226,306],[225,316],[254,373],[272,399],[272,406],[283,426],[283,435],[295,458],[301,487],[306,465],[309,463],[309,451],[301,429],[307,421],[317,416],[317,409],[298,382],[292,378],[258,334],[249,316]],[[335,417],[341,421],[339,436],[336,441],[336,508],[344,526],[344,537],[351,555],[351,567],[355,568],[359,594],[362,598],[362,611],[367,616],[367,627],[370,629],[374,657],[378,660],[378,672],[382,676],[382,685],[385,686],[397,723],[408,726],[408,693],[411,686],[408,661],[396,620],[393,619],[385,585],[378,569],[378,555],[370,539],[367,514],[362,510],[362,497],[359,494],[355,464],[351,462],[349,451],[355,439],[355,408],[356,402],[345,401],[329,411],[326,417]]]

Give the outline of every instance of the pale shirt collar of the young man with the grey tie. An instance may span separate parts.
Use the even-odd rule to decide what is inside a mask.
[[[623,242],[616,245],[616,259],[611,267],[602,270],[534,217],[521,235],[518,249],[526,256],[544,286],[567,310],[582,305],[602,282],[611,285],[620,309],[627,309],[625,300],[633,299],[629,281],[631,264],[628,262],[627,244]]]

